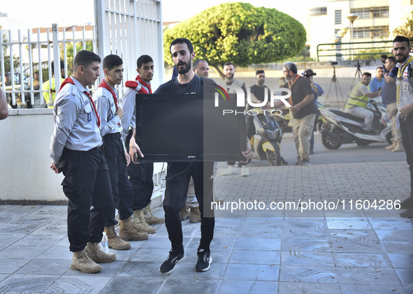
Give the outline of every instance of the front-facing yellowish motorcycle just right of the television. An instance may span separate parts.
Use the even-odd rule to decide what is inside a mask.
[[[282,132],[275,119],[275,114],[279,112],[263,108],[252,108],[249,112],[254,114],[255,126],[255,134],[251,138],[252,158],[267,160],[270,166],[287,165],[280,154]]]

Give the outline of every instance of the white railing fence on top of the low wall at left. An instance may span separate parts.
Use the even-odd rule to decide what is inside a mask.
[[[52,82],[52,61],[64,61],[64,77],[71,74],[77,47],[96,51],[96,34],[92,26],[27,30],[17,37],[12,31],[0,34],[1,87],[13,108],[44,108],[43,83]],[[68,52],[68,47],[71,48]],[[59,89],[60,62],[55,62],[55,84]],[[38,77],[35,76],[38,73]]]

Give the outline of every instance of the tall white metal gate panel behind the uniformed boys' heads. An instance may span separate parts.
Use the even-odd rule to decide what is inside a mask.
[[[160,0],[95,0],[100,57],[117,54],[124,61],[124,80],[135,80],[136,59],[154,59],[152,89],[164,81],[164,41]],[[119,91],[119,96],[122,94]]]

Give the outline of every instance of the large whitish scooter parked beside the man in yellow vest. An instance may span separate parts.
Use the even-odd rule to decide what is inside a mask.
[[[364,119],[354,117],[347,112],[328,108],[319,108],[326,122],[321,128],[321,141],[327,149],[338,149],[342,144],[355,142],[357,146],[366,146],[374,142],[389,142],[391,144],[391,124],[384,126],[380,122],[384,108],[378,108],[370,99],[368,110],[375,115],[373,131],[368,133],[363,129]]]

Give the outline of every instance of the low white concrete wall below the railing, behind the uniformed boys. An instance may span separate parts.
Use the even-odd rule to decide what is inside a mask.
[[[53,133],[52,109],[9,110],[0,121],[0,204],[64,204],[62,174],[50,169],[50,138]],[[161,163],[154,172],[161,172]],[[164,167],[164,169],[166,166]],[[161,205],[165,175],[154,177],[152,202]]]

